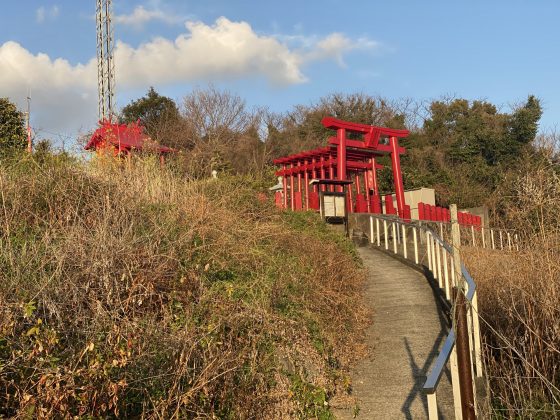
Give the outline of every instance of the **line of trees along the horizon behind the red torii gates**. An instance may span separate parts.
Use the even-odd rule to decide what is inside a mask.
[[[326,144],[332,133],[321,119],[327,115],[405,128],[410,130],[402,142],[405,188],[434,188],[438,204],[471,207],[492,204],[512,173],[543,161],[558,170],[558,149],[543,147],[546,136],[539,135],[541,114],[540,101],[532,95],[502,110],[485,100],[425,103],[363,93],[335,93],[279,114],[249,108],[239,95],[210,86],[193,90],[179,103],[150,88],[126,105],[119,119],[140,121],[153,140],[176,149],[175,163],[193,178],[212,170],[271,176],[273,159]],[[0,124],[2,150],[25,148],[23,114],[6,99],[0,101]],[[380,163],[385,164],[381,190],[390,192],[390,162]]]

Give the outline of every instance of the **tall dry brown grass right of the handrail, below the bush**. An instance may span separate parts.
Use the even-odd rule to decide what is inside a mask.
[[[465,252],[480,288],[486,370],[498,418],[560,415],[558,257],[544,244],[515,253]]]

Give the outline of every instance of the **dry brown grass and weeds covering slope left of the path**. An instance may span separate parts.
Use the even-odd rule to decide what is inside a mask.
[[[239,178],[0,167],[0,416],[324,416],[366,324],[352,247]]]

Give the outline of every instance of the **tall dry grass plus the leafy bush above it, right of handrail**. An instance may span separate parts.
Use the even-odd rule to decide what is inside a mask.
[[[509,183],[504,225],[519,252],[468,250],[480,286],[493,418],[560,417],[560,176],[541,167]]]

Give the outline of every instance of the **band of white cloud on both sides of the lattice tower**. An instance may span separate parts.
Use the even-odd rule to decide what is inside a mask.
[[[117,42],[117,94],[150,85],[215,82],[263,78],[270,85],[305,83],[306,65],[332,60],[343,66],[345,53],[374,49],[367,39],[352,40],[341,33],[285,42],[256,33],[247,22],[218,18],[212,25],[186,22],[176,39],[154,38],[139,46]],[[32,96],[32,122],[50,131],[89,128],[97,117],[97,65],[72,64],[63,58],[33,54],[14,41],[0,45],[0,96],[24,107]],[[123,104],[120,104],[123,105]],[[89,124],[89,127],[87,125]]]

